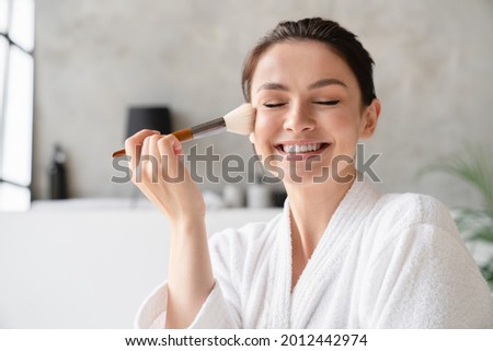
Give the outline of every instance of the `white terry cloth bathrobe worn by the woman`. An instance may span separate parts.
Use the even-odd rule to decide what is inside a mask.
[[[215,285],[190,328],[492,328],[493,299],[449,211],[355,182],[291,292],[289,199],[209,239]],[[165,282],[138,328],[163,328]]]

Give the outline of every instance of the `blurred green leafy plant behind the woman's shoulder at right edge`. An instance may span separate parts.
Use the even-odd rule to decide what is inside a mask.
[[[471,185],[482,197],[479,208],[460,207],[454,213],[457,227],[466,241],[493,245],[493,156],[478,145],[468,145],[462,154],[438,160],[421,169],[419,176],[445,172]],[[481,273],[493,290],[493,253],[480,265]]]

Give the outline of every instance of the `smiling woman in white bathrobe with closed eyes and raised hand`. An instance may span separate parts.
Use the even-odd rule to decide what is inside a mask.
[[[284,211],[208,242],[190,175],[152,183],[142,161],[149,176],[137,186],[172,234],[168,282],[142,305],[138,327],[493,327],[491,294],[447,209],[426,196],[379,194],[355,169],[380,102],[372,60],[352,33],[321,19],[280,23],[252,50],[242,80],[256,108],[250,138],[283,174]],[[173,136],[129,138],[134,169],[140,144],[177,175]]]

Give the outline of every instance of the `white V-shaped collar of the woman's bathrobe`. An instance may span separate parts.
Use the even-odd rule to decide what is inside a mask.
[[[306,328],[324,291],[334,282],[326,274],[342,265],[347,243],[362,229],[368,213],[381,195],[368,180],[356,179],[331,218],[319,244],[307,262],[291,294],[291,230],[289,199],[286,199],[276,230],[276,253],[273,262],[273,300],[268,303],[267,324],[271,328]],[[351,230],[349,230],[351,229]],[[333,255],[332,253],[337,253]]]

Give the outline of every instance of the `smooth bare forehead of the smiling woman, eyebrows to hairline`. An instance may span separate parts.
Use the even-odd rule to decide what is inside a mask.
[[[278,43],[259,58],[252,92],[270,81],[309,84],[321,78],[336,78],[348,86],[357,86],[349,66],[328,45],[313,40]]]

